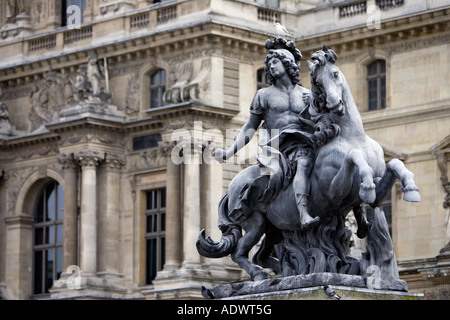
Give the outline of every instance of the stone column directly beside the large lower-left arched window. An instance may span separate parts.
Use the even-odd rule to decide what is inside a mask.
[[[78,163],[73,154],[58,157],[64,174],[63,271],[77,265]]]

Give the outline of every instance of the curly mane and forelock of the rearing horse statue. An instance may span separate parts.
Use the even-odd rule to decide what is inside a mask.
[[[339,135],[341,128],[334,123],[330,114],[330,109],[327,108],[327,95],[317,83],[317,69],[324,66],[327,61],[334,64],[337,60],[337,55],[333,50],[330,50],[326,45],[323,45],[322,50],[316,51],[311,56],[311,59],[316,61],[312,64],[310,73],[311,93],[313,96],[311,106],[316,113],[315,115],[312,115],[315,122],[313,141],[319,146],[323,146]]]

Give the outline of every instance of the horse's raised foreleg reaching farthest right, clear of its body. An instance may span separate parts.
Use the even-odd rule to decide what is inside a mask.
[[[414,182],[414,173],[406,169],[404,163],[398,159],[392,159],[386,166],[386,171],[377,182],[376,200],[373,207],[378,206],[389,195],[396,179],[402,182],[403,200],[410,202],[420,201],[419,188]]]

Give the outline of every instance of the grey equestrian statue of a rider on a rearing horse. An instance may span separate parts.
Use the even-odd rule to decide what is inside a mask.
[[[215,156],[219,162],[230,159],[261,123],[262,153],[257,165],[234,177],[220,201],[220,241],[205,238],[202,230],[198,252],[210,258],[231,255],[253,281],[263,281],[258,285],[270,290],[280,288],[273,283],[280,280],[268,279],[263,268],[283,279],[303,277],[289,280],[284,289],[313,281],[407,291],[406,282],[399,280],[388,225],[378,207],[397,179],[405,201],[420,201],[414,174],[398,159],[385,165],[381,146],[364,132],[333,50],[324,45],[312,55],[314,62],[308,61],[309,91],[299,81],[302,56],[294,42],[276,38],[267,40],[266,48],[270,86],[255,94],[249,120],[234,145],[216,149]],[[366,217],[366,204],[375,208],[373,217]],[[360,260],[350,255],[352,233],[345,227],[352,210],[357,236],[367,237],[367,252]],[[250,261],[249,251],[263,236]],[[228,289],[237,292],[243,287]],[[219,297],[223,292],[218,289],[205,296]]]

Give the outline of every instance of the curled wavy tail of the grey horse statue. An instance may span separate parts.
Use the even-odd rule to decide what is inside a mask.
[[[205,238],[204,229],[200,231],[196,246],[202,256],[225,257],[235,250],[238,240],[242,237],[241,227],[228,217],[228,193],[225,193],[219,203],[219,228],[222,231],[219,242],[215,242],[211,237]]]

